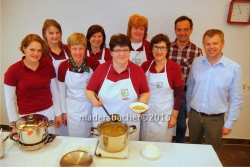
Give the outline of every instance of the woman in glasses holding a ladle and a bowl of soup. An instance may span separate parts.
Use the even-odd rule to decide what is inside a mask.
[[[92,117],[97,119],[93,125],[96,127],[103,117],[107,118],[100,107],[103,104],[110,114],[119,114],[129,125],[136,125],[137,131],[130,135],[130,140],[139,140],[140,115],[131,111],[129,104],[135,101],[147,104],[149,89],[146,76],[141,67],[129,60],[132,47],[126,35],[113,35],[109,47],[113,59],[96,69],[86,88],[87,98],[94,106]]]

